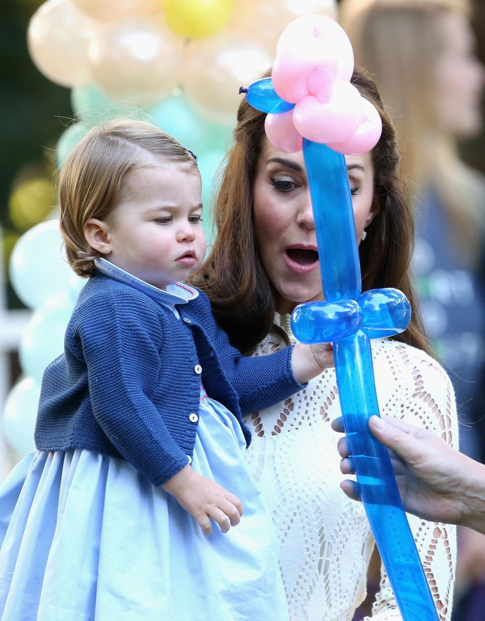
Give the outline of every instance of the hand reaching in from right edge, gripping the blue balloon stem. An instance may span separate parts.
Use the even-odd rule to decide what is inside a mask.
[[[332,422],[344,431],[343,419]],[[413,427],[393,417],[372,416],[369,428],[388,446],[404,509],[425,520],[463,524],[485,532],[485,466],[448,446],[434,433]],[[338,449],[343,474],[354,474],[347,438]],[[358,484],[342,481],[340,487],[360,500]]]

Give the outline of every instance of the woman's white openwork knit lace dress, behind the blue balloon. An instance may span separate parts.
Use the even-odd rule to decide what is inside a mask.
[[[275,316],[291,342],[290,315]],[[255,355],[281,347],[277,335]],[[458,446],[453,388],[426,353],[392,340],[372,342],[381,414],[393,415]],[[246,459],[269,506],[282,551],[280,569],[291,621],[350,621],[366,595],[375,545],[362,504],[339,487],[337,441],[330,424],[340,416],[334,369],[285,402],[246,417],[252,430]],[[408,515],[440,621],[450,619],[456,529]],[[384,569],[372,619],[400,620]]]

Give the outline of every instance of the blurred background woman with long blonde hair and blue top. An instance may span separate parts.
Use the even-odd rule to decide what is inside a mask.
[[[457,141],[483,125],[484,68],[474,55],[468,0],[343,0],[340,22],[355,61],[375,76],[414,186],[413,270],[432,345],[452,371],[461,449],[474,458],[483,399],[485,299],[477,265],[485,232],[485,182]],[[479,411],[473,414],[474,406]],[[482,430],[485,442],[485,428]]]

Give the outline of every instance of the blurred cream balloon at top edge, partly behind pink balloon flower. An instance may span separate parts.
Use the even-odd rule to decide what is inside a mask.
[[[276,55],[276,44],[283,30],[296,17],[309,14],[337,19],[336,0],[244,0],[238,2],[229,29],[247,33]]]

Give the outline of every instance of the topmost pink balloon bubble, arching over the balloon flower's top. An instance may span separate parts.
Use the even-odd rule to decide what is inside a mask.
[[[327,53],[335,58],[337,63],[336,78],[350,81],[354,71],[352,44],[345,30],[336,21],[323,15],[304,15],[293,20],[283,30],[278,40],[277,57],[285,52],[293,52],[302,42],[308,45],[309,40],[312,39],[323,42],[328,50]]]

